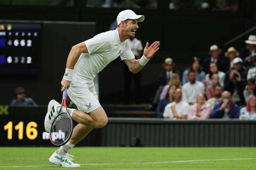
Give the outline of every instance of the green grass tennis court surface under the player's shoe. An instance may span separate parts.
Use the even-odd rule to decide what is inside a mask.
[[[60,169],[48,158],[57,147],[0,147],[0,169]],[[255,147],[75,147],[77,169],[244,169],[256,167]]]

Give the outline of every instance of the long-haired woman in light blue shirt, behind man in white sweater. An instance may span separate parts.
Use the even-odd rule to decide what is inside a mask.
[[[188,72],[189,71],[196,72],[196,80],[204,83],[205,72],[202,71],[202,68],[200,67],[200,59],[199,58],[194,57],[192,66],[183,72],[183,75],[182,75],[182,84],[183,85],[188,83]]]

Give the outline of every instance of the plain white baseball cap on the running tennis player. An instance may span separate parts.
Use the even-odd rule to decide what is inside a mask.
[[[132,10],[124,10],[117,15],[116,21],[117,25],[119,25],[121,21],[126,19],[138,19],[138,22],[142,22],[144,18],[144,15],[136,15]]]

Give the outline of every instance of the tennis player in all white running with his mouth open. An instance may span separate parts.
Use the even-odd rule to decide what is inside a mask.
[[[126,63],[132,73],[139,72],[149,59],[159,50],[159,41],[144,48],[143,56],[135,60],[131,51],[129,37],[134,37],[139,28],[138,22],[143,15],[136,15],[131,10],[121,11],[117,18],[117,29],[94,36],[92,39],[73,46],[67,60],[66,71],[61,81],[61,91],[68,88],[68,96],[78,110],[68,108],[72,119],[78,122],[67,144],[61,146],[49,158],[53,164],[62,167],[80,167],[72,162],[68,154],[93,128],[102,128],[108,123],[108,117],[101,107],[93,84],[95,75],[118,56]],[[44,127],[49,133],[51,123],[61,105],[51,100],[44,120]],[[64,110],[63,110],[64,111]],[[52,114],[51,114],[52,112]]]

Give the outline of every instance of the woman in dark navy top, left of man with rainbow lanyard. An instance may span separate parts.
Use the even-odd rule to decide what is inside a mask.
[[[173,73],[175,74],[175,73]],[[168,104],[173,102],[173,92],[177,89],[176,85],[171,85],[167,89],[167,94],[165,95],[165,98],[160,100],[157,108],[156,108],[156,116],[157,118],[164,118],[164,107]]]

